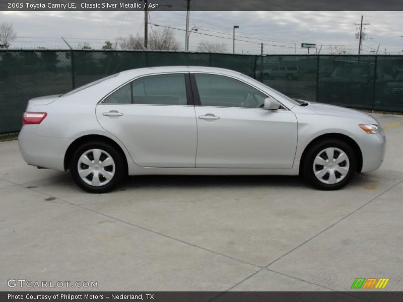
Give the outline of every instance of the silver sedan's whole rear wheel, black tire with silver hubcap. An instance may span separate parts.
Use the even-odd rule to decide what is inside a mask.
[[[74,181],[91,193],[113,190],[124,179],[124,167],[120,153],[103,141],[84,143],[75,151],[70,162]]]

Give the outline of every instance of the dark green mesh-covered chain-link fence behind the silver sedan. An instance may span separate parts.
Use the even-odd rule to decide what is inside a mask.
[[[0,133],[19,131],[31,98],[61,94],[122,70],[167,65],[238,70],[293,98],[403,112],[403,57],[0,50]]]

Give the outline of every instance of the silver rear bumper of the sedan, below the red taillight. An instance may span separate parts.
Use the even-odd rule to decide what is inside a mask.
[[[35,135],[38,125],[24,125],[18,144],[28,165],[64,171],[64,155],[73,142],[70,138]]]

